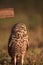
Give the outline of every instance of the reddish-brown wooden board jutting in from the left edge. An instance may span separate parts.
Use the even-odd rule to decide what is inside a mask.
[[[0,18],[14,17],[14,8],[0,9]]]

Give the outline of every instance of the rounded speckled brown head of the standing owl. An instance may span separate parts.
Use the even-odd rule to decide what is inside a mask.
[[[12,27],[12,30],[11,30],[12,33],[17,33],[17,32],[27,32],[27,28],[26,28],[26,25],[23,24],[23,23],[16,23],[13,27]]]

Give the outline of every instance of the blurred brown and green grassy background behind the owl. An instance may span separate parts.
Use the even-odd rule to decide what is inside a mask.
[[[7,46],[11,28],[22,22],[27,26],[30,39],[25,63],[43,65],[43,0],[0,0],[1,8],[14,8],[14,17],[0,18],[0,61],[7,57],[10,62]]]

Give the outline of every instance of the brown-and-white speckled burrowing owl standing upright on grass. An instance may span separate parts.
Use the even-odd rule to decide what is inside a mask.
[[[15,24],[11,29],[11,34],[8,42],[8,53],[12,57],[15,65],[17,58],[21,57],[21,63],[23,65],[24,56],[29,46],[28,34],[26,25],[23,23]],[[19,60],[20,61],[20,60]]]

